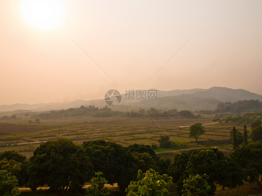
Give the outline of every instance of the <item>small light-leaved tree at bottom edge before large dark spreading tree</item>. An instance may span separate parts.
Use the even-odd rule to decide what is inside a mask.
[[[211,190],[211,186],[206,179],[209,179],[207,175],[190,175],[183,181],[182,196],[209,196],[207,193]]]

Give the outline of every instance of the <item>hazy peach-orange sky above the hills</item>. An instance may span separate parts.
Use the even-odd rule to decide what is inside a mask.
[[[36,3],[37,2],[37,3]],[[213,86],[262,95],[262,1],[0,1],[0,105]]]

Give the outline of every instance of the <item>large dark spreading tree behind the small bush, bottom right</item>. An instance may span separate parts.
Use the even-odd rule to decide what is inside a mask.
[[[243,184],[243,169],[216,148],[190,150],[176,155],[168,174],[172,176],[172,181],[177,183],[177,191],[181,195],[183,182],[190,175],[209,176],[207,183],[211,189],[207,192],[208,195],[214,195],[214,181],[223,188]]]

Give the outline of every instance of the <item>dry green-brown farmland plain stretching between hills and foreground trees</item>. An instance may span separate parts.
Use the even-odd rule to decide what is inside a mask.
[[[176,142],[184,142],[196,148],[193,138],[188,137],[189,126],[205,124],[206,133],[199,139],[199,147],[218,146],[228,154],[232,150],[229,132],[232,126],[212,124],[213,115],[199,119],[131,119],[126,117],[93,118],[63,117],[40,119],[40,123],[28,123],[28,119],[0,119],[0,152],[16,150],[30,157],[41,143],[58,138],[71,139],[82,144],[90,139],[104,139],[129,146],[134,143],[158,144],[161,135],[167,134]],[[237,127],[242,132],[243,127]],[[158,154],[172,159],[179,150],[156,150]]]

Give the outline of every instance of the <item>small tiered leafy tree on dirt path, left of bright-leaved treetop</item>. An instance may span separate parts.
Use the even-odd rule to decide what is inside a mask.
[[[108,196],[110,193],[108,192],[108,188],[104,186],[104,184],[108,183],[105,178],[101,177],[103,175],[102,172],[96,172],[95,175],[97,177],[93,177],[93,184],[87,188],[86,196]]]

